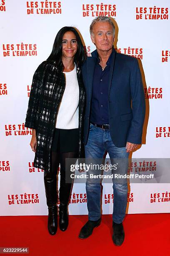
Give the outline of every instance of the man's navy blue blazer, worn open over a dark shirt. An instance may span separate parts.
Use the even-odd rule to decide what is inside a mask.
[[[120,54],[113,49],[109,77],[109,125],[110,136],[117,147],[125,147],[126,142],[141,144],[145,120],[145,95],[138,60]],[[87,144],[90,126],[92,83],[97,50],[82,66],[82,77],[86,91],[84,116],[84,143]],[[132,102],[132,104],[131,104]]]

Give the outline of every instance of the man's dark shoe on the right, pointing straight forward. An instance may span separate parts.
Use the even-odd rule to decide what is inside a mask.
[[[117,246],[120,246],[123,243],[125,238],[123,225],[122,223],[117,224],[113,221],[112,227],[113,227],[113,236],[112,236],[113,243]]]

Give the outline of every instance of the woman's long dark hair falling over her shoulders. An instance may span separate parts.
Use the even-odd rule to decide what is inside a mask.
[[[80,67],[83,62],[85,61],[85,51],[84,51],[84,47],[82,45],[82,41],[81,38],[79,36],[79,34],[77,33],[77,31],[75,30],[75,28],[73,27],[63,27],[61,28],[58,33],[57,36],[55,37],[55,41],[52,47],[52,52],[50,54],[50,56],[47,58],[47,61],[56,61],[56,66],[60,66],[62,64],[62,38],[64,36],[64,33],[66,33],[67,31],[72,31],[77,39],[77,52],[75,54],[74,57],[74,62],[76,64],[77,67]]]

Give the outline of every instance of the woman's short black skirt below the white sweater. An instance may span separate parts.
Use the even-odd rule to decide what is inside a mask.
[[[55,128],[51,151],[67,153],[79,150],[79,134],[77,129]]]

